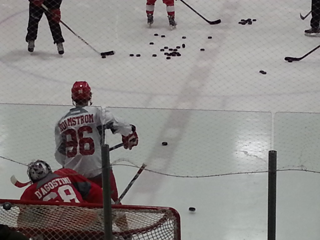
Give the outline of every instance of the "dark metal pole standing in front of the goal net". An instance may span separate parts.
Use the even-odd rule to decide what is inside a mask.
[[[101,146],[101,160],[102,160],[104,239],[112,240],[110,156],[109,156],[108,144],[104,144]]]

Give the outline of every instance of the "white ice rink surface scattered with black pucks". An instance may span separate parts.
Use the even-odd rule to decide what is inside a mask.
[[[178,26],[171,31],[165,5],[158,0],[149,29],[144,1],[63,0],[62,20],[68,26],[98,51],[116,51],[101,59],[63,26],[65,54],[59,56],[45,17],[30,54],[25,42],[28,1],[0,0],[0,102],[70,105],[72,84],[88,81],[95,105],[125,107],[112,111],[138,129],[139,146],[131,152],[118,149],[111,161],[148,162],[173,175],[219,174],[266,170],[268,150],[275,149],[279,168],[303,165],[319,171],[318,115],[277,113],[319,112],[319,52],[300,62],[284,61],[319,44],[319,38],[303,35],[310,17],[299,18],[300,12],[310,10],[310,1],[188,4],[207,19],[222,22],[209,25],[175,1]],[[248,18],[257,21],[238,24]],[[164,46],[182,44],[186,47],[179,50],[181,57],[166,60],[160,52]],[[129,57],[131,53],[141,57]],[[0,106],[1,156],[23,164],[45,158],[59,167],[53,159],[53,124],[68,107],[46,109]],[[169,139],[166,150],[158,146],[164,139]],[[110,140],[119,141],[119,136]],[[119,192],[136,170],[114,167]],[[15,174],[27,181],[25,171],[24,165],[0,160],[1,198],[20,197],[23,189],[14,188],[9,178]],[[123,203],[176,208],[183,240],[260,240],[267,239],[267,184],[266,173],[177,178],[143,172]],[[278,239],[319,238],[319,189],[319,174],[278,173]],[[196,212],[189,213],[189,206]]]

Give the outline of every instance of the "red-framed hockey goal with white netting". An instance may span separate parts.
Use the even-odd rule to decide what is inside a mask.
[[[3,204],[12,204],[9,210]],[[103,240],[100,204],[0,199],[0,224],[41,240]],[[180,215],[171,207],[112,205],[113,236],[133,240],[180,240]]]

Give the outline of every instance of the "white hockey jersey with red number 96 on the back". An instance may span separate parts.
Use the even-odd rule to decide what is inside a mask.
[[[92,178],[102,172],[101,145],[104,132],[128,136],[130,124],[100,107],[71,108],[55,126],[55,158],[63,167]]]

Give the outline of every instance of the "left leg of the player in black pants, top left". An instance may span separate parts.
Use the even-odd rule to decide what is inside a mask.
[[[28,51],[33,52],[35,48],[35,40],[38,35],[39,21],[44,10],[30,2],[29,4],[29,20],[27,28],[26,42],[28,43]]]

